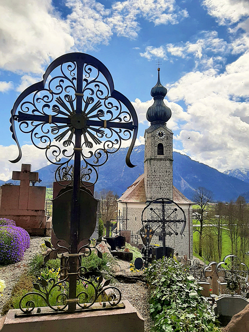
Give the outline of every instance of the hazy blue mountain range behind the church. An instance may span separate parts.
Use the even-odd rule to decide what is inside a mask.
[[[135,146],[132,151],[131,162],[137,165],[134,168],[129,168],[125,164],[127,150],[128,148],[121,148],[116,153],[110,154],[107,162],[99,167],[99,179],[95,191],[112,190],[121,196],[144,172],[144,145]],[[173,184],[190,200],[193,199],[195,189],[205,187],[213,193],[214,201],[228,202],[242,195],[249,202],[248,169],[227,170],[221,173],[179,152],[173,152],[173,159]],[[55,168],[54,165],[48,165],[37,170],[42,182],[36,185],[52,187]]]

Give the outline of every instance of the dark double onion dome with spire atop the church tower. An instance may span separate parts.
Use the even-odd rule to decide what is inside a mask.
[[[158,81],[151,89],[151,96],[154,98],[154,104],[148,108],[146,119],[152,124],[166,124],[171,118],[171,110],[167,107],[163,99],[167,94],[167,89],[160,82],[160,68],[158,70]],[[157,125],[155,127],[158,127]]]

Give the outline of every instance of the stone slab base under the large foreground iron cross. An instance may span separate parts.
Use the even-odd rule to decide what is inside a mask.
[[[45,316],[15,317],[17,309],[9,310],[1,332],[144,332],[144,319],[128,300],[125,308],[111,310],[81,311]],[[95,306],[101,305],[95,303]],[[49,308],[41,308],[46,310]],[[34,309],[36,312],[37,309]],[[2,323],[2,322],[1,322]],[[2,327],[2,328],[1,328]]]

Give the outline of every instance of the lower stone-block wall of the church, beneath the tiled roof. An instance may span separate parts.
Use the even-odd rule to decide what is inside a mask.
[[[145,203],[127,203],[127,229],[131,230],[133,234],[142,227],[141,215],[145,207]],[[175,253],[178,252],[180,256],[188,255],[188,258],[193,258],[193,225],[192,225],[192,206],[189,205],[179,205],[185,212],[186,215],[186,227],[183,235],[180,235],[182,224],[179,226],[179,234],[166,236],[166,246],[175,248]],[[124,203],[118,203],[118,210],[122,212],[123,216],[126,217],[126,205]],[[190,225],[190,227],[189,227]],[[125,224],[126,226],[126,224]],[[124,224],[123,224],[123,229]],[[141,237],[138,237],[138,243],[142,243]],[[153,236],[151,244],[162,245],[162,241],[159,241],[158,236]]]

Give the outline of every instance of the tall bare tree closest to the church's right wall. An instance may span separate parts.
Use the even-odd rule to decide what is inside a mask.
[[[209,221],[208,217],[208,203],[212,200],[212,192],[206,188],[199,187],[196,190],[193,201],[198,208],[193,209],[193,216],[200,222],[199,227],[193,227],[194,232],[199,233],[199,256],[202,256],[202,240],[203,240],[203,226]]]

